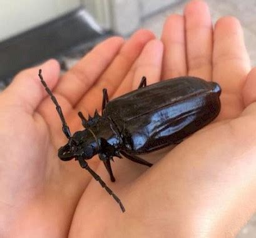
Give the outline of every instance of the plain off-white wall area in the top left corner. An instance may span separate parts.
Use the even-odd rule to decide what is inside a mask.
[[[0,0],[0,41],[72,11],[79,0]]]

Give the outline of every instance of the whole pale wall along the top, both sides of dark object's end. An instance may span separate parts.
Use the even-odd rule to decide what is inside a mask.
[[[81,5],[101,27],[128,35],[145,17],[179,0],[0,0],[0,41]]]

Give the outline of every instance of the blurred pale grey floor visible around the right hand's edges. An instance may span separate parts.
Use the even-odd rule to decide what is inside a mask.
[[[142,24],[142,27],[146,29],[151,29],[155,32],[156,36],[161,35],[161,27],[166,17],[172,13],[182,13],[183,7],[186,2],[182,1],[180,4],[175,4],[174,6],[165,9],[154,16],[151,16]],[[212,14],[213,22],[222,16],[235,16],[237,17],[243,27],[245,44],[247,50],[250,54],[252,66],[256,65],[256,1],[255,0],[226,0],[226,1],[206,1],[210,6],[210,11]],[[256,174],[256,171],[255,171]],[[256,214],[248,222],[248,224],[243,227],[243,229],[238,234],[237,238],[256,238]]]

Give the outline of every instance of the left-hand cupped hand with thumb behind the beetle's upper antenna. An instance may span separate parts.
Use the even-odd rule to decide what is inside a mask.
[[[158,53],[153,57],[151,51]],[[127,41],[111,37],[60,79],[58,62],[50,60],[20,72],[1,92],[1,237],[67,237],[76,205],[91,181],[76,161],[58,159],[58,148],[67,139],[39,81],[39,68],[73,134],[83,129],[78,111],[86,115],[100,109],[103,87],[112,97],[140,82],[144,68],[149,67],[143,58],[156,68],[149,79],[158,80],[161,52],[161,42],[150,31],[135,32]],[[98,158],[90,161],[94,170],[98,164]]]

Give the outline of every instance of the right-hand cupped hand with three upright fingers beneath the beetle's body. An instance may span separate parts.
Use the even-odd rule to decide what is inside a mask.
[[[183,16],[168,17],[161,41],[160,78],[188,75],[218,82],[220,115],[150,169],[116,160],[117,181],[111,188],[125,214],[91,181],[69,237],[234,237],[256,209],[256,71],[250,70],[240,23],[223,17],[213,29],[207,4],[192,1]],[[159,52],[151,49],[150,55]],[[148,56],[147,67],[138,64],[145,76],[158,72],[150,61]],[[109,181],[103,166],[97,171]]]

